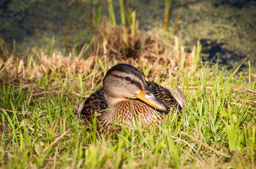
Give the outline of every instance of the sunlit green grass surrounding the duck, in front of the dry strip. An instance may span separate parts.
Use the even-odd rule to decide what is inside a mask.
[[[41,59],[42,62],[34,61],[32,66],[25,66],[25,70],[33,72],[35,68],[48,65],[47,58]],[[78,60],[74,58],[71,62]],[[107,67],[103,64],[104,58],[100,62],[97,58],[79,62],[89,64],[86,68],[90,70],[79,72],[77,69],[70,73],[71,68],[52,64],[50,73],[41,73],[41,77],[29,83],[19,78],[8,83],[8,76],[2,74],[1,118],[8,115],[10,131],[9,162],[5,165],[1,156],[2,166],[255,166],[256,92],[245,82],[248,77],[238,76],[237,79],[234,73],[223,76],[227,72],[216,73],[214,69],[191,73],[189,68],[184,68],[180,75],[176,74],[178,78],[171,77],[169,83],[168,69],[163,67],[166,71],[150,74],[149,79],[159,78],[161,85],[180,86],[187,96],[181,121],[169,116],[161,126],[146,128],[135,124],[134,129],[124,126],[122,130],[103,136],[96,132],[94,125],[87,127],[77,119],[75,103],[101,87],[104,70],[116,61],[106,61]],[[149,62],[141,67],[147,77],[148,72],[154,73],[150,65]],[[83,66],[80,65],[80,69],[85,70]],[[255,79],[251,79],[251,86],[253,84],[255,86]],[[2,141],[1,147],[3,145]],[[3,148],[0,151],[5,153]]]

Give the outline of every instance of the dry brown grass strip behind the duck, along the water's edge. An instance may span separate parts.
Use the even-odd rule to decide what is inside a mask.
[[[59,52],[54,52],[50,56],[36,49],[32,49],[31,55],[25,55],[22,59],[11,54],[4,57],[2,54],[0,59],[1,78],[8,82],[18,82],[23,79],[29,83],[41,78],[45,73],[50,76],[52,71],[63,76],[62,78],[66,78],[67,73],[74,74],[74,76],[80,73],[83,78],[92,74],[92,70],[99,60],[105,64],[107,70],[118,63],[134,65],[146,79],[152,81],[158,81],[159,74],[161,74],[161,78],[167,79],[172,75],[179,76],[181,71],[188,67],[189,69],[193,68],[191,60],[194,58],[195,50],[188,53],[184,47],[179,49],[177,46],[161,40],[158,36],[142,35],[139,31],[132,36],[128,28],[126,31],[128,42],[124,43],[120,26],[113,27],[102,22],[100,33],[95,35],[96,40],[87,49],[88,59],[81,58],[80,54],[78,57],[72,54],[63,56]],[[145,42],[142,46],[143,36]],[[132,41],[135,43],[134,46]],[[6,50],[2,51],[6,53]],[[84,51],[80,53],[82,52]],[[181,57],[185,57],[185,62],[182,65],[180,64]],[[143,70],[142,67],[146,67],[146,69]],[[98,75],[99,72],[100,69],[96,69],[94,74]],[[96,78],[102,78],[102,76]]]

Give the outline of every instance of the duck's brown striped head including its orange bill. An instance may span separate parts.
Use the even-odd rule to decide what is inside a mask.
[[[115,65],[106,73],[103,78],[103,94],[110,107],[127,98],[137,98],[157,109],[168,109],[168,106],[151,92],[140,71],[127,64]]]

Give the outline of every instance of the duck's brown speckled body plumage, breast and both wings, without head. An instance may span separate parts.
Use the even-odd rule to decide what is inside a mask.
[[[167,89],[151,81],[146,81],[146,83],[152,93],[161,99],[165,104],[172,109],[177,108],[177,101]],[[106,128],[109,125],[112,125],[114,120],[131,124],[131,121],[135,123],[138,117],[141,118],[142,123],[152,124],[156,119],[158,119],[158,122],[161,123],[163,114],[168,114],[169,110],[171,110],[156,111],[154,107],[139,99],[127,99],[125,101],[121,101],[118,102],[115,107],[116,108],[110,110],[101,111],[108,108],[103,96],[103,88],[101,88],[89,96],[86,102],[84,102],[81,111],[77,112],[77,115],[80,114],[80,116],[89,123],[92,123],[92,114],[96,115],[97,121],[100,122],[100,125]],[[180,113],[179,116],[182,115],[182,109],[180,106],[178,110]]]

